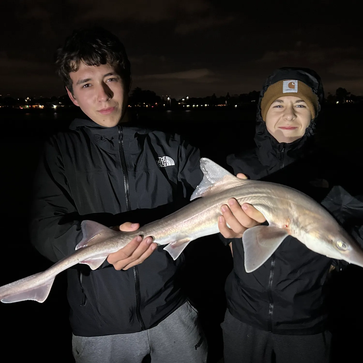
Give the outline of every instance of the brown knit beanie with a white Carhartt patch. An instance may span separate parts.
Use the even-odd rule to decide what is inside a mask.
[[[318,96],[305,83],[294,79],[284,79],[270,85],[261,99],[261,116],[264,121],[272,102],[284,96],[300,97],[309,107],[311,119],[315,118],[319,105]]]

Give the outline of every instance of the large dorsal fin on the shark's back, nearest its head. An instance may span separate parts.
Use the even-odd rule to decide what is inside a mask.
[[[195,188],[190,200],[218,193],[246,182],[207,158],[200,159],[200,169],[204,174],[203,180]]]

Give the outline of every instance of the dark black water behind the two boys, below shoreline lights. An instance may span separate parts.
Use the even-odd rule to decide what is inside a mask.
[[[363,155],[362,111],[357,108],[334,108],[325,112],[318,127],[318,140],[337,158],[337,167],[344,160],[356,160],[357,170],[350,178],[360,178]],[[148,112],[143,118],[150,127],[185,135],[199,146],[203,156],[221,162],[231,152],[253,145],[254,110],[233,111],[169,111]],[[27,222],[31,197],[31,181],[44,139],[57,130],[66,130],[73,113],[4,113],[1,122],[2,208],[0,286],[50,266],[29,244]],[[342,169],[342,172],[343,171]],[[208,275],[195,270],[206,295],[201,309],[204,324],[214,336],[212,362],[221,356],[221,336],[216,326],[223,319],[223,279],[231,267],[225,252],[211,257],[213,272]],[[228,267],[229,266],[229,267]],[[199,276],[198,276],[199,275]],[[337,278],[334,287],[335,340],[333,362],[353,362],[349,354],[358,354],[362,340],[362,272],[348,268]],[[14,361],[34,359],[48,362],[72,362],[71,331],[68,323],[65,274],[56,278],[48,299],[0,305],[1,347],[14,356]],[[218,291],[216,291],[218,290]],[[221,292],[222,291],[222,292]],[[208,305],[208,306],[207,306]],[[214,309],[214,310],[213,310]],[[213,311],[216,311],[213,314]],[[360,338],[359,338],[360,337]]]

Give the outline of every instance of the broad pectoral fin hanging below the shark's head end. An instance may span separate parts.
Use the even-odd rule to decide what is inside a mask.
[[[246,272],[253,272],[263,265],[287,236],[286,231],[272,226],[247,229],[242,236]]]

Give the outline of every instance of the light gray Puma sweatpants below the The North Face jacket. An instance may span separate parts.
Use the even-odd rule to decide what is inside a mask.
[[[101,337],[73,335],[72,347],[76,363],[207,362],[207,341],[188,302],[154,328]]]

